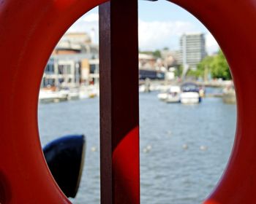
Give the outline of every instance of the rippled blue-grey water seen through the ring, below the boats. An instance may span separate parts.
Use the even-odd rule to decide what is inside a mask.
[[[221,98],[187,106],[141,93],[141,203],[201,203],[222,176],[235,126],[236,105]],[[39,132],[42,146],[59,136],[86,135],[83,177],[72,203],[99,204],[99,98],[39,104]]]

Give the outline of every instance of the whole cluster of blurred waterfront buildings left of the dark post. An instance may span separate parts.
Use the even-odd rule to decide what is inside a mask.
[[[79,87],[99,80],[99,46],[84,33],[65,34],[53,50],[41,87]]]

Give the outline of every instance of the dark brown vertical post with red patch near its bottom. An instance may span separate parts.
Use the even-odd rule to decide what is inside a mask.
[[[138,2],[99,6],[101,203],[140,203]]]

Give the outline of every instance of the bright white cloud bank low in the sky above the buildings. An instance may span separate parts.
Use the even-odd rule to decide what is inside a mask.
[[[181,34],[199,32],[195,25],[188,21],[144,21],[139,20],[139,47],[140,50],[157,50],[170,47],[178,50]],[[80,17],[70,28],[69,32],[86,32],[92,34],[94,30],[94,43],[99,42],[99,15],[89,13]],[[214,37],[206,32],[206,49],[209,53],[218,50]]]

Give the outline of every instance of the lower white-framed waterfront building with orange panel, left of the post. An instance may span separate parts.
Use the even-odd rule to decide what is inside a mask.
[[[99,58],[89,54],[52,55],[41,87],[79,87],[99,80]]]

